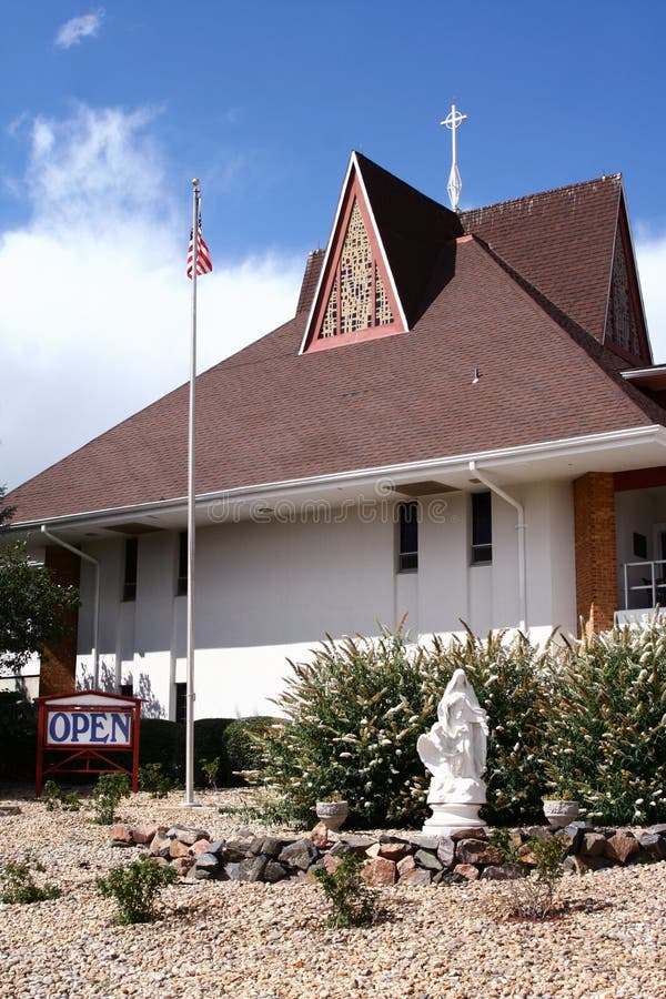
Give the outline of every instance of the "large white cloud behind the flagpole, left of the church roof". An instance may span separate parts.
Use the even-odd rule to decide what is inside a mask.
[[[186,381],[190,206],[149,110],[38,119],[31,220],[0,233],[0,484],[18,485]],[[199,283],[199,369],[293,315],[303,261],[215,262]],[[251,309],[248,307],[249,303]]]

